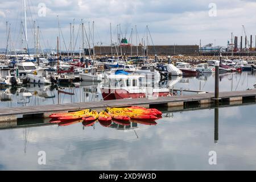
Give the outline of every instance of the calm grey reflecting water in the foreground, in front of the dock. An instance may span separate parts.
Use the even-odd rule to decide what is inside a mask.
[[[129,130],[100,123],[0,130],[0,169],[255,170],[255,110],[221,107],[218,125],[217,110],[203,109],[167,112],[155,126],[133,123]],[[45,166],[38,165],[39,151],[46,151]],[[210,151],[217,152],[215,166]]]

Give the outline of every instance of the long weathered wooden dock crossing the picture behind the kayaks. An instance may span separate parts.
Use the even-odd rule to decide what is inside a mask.
[[[18,118],[48,118],[52,113],[77,111],[81,109],[102,110],[105,107],[125,107],[139,105],[144,107],[168,106],[184,107],[188,104],[209,105],[214,102],[214,93],[194,94],[191,96],[171,96],[158,98],[139,98],[101,102],[86,102],[61,105],[40,105],[24,107],[2,107],[0,122],[15,121]],[[220,102],[242,104],[244,100],[256,100],[256,89],[236,92],[220,92]]]

